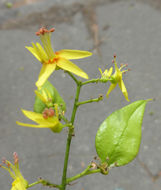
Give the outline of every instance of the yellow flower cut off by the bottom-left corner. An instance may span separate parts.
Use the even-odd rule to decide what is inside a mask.
[[[3,169],[7,170],[11,177],[14,179],[12,182],[12,188],[11,190],[26,190],[28,186],[28,182],[24,179],[22,176],[20,170],[19,170],[19,164],[18,164],[18,155],[16,152],[13,153],[14,156],[14,164],[9,162],[8,160],[3,160],[3,163],[7,166],[2,166]]]

